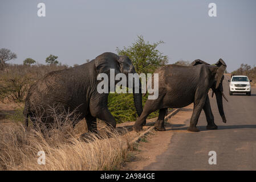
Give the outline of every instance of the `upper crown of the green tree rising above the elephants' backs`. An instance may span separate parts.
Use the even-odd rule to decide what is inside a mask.
[[[131,59],[136,72],[153,73],[157,68],[160,68],[168,63],[168,57],[161,53],[157,46],[164,42],[159,41],[153,44],[146,42],[142,35],[137,36],[137,40],[132,46],[124,47],[123,49],[116,48],[118,55],[126,55]]]

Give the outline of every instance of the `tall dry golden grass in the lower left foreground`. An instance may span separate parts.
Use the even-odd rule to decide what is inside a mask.
[[[59,124],[50,130],[26,131],[21,123],[2,123],[0,170],[115,170],[128,159],[132,139],[123,135],[124,130],[113,131],[99,122],[100,137],[88,134],[81,139],[86,125],[73,129],[68,119]],[[37,162],[39,151],[46,154],[45,165]]]

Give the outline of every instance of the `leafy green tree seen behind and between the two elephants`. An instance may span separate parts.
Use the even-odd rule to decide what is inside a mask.
[[[157,49],[157,46],[164,42],[159,41],[150,44],[144,40],[143,36],[138,36],[137,38],[132,46],[124,47],[123,49],[116,48],[118,55],[126,55],[131,59],[137,73],[153,73],[157,68],[168,62],[167,56],[164,56]],[[143,97],[143,105],[147,100],[147,95]],[[108,109],[117,122],[135,121],[138,117],[132,94],[110,93],[108,96]],[[158,113],[158,111],[155,111],[148,118],[157,117]]]

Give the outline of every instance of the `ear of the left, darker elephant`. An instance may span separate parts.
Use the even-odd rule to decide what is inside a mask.
[[[110,69],[115,69],[115,73],[120,73],[118,60],[119,56],[111,52],[105,52],[95,58],[95,67],[98,73],[109,73]]]

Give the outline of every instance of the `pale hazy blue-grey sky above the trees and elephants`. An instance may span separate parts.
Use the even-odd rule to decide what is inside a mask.
[[[46,17],[37,5],[46,5]],[[217,17],[208,5],[217,5]],[[130,46],[143,35],[162,40],[159,49],[169,64],[183,59],[216,63],[227,71],[256,64],[256,1],[90,0],[0,1],[0,48],[9,48],[22,63],[27,57],[45,63],[48,55],[63,64],[83,64],[116,47]]]

